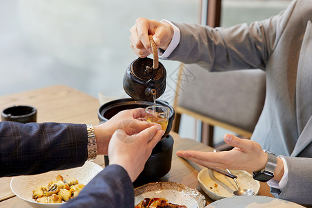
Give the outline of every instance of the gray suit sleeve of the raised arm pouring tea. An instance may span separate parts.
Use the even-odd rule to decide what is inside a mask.
[[[264,70],[292,10],[290,6],[270,19],[230,28],[173,23],[180,29],[180,44],[168,59],[196,63],[209,71]]]

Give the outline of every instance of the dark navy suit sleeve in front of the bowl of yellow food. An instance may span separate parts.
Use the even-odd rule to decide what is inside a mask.
[[[121,166],[110,165],[98,173],[77,198],[69,200],[61,208],[133,208],[134,198],[133,185],[128,173]]]

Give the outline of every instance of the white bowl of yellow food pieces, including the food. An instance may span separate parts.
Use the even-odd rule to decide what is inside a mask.
[[[102,170],[98,164],[87,161],[78,168],[12,177],[10,187],[16,196],[32,207],[60,207],[78,196]]]

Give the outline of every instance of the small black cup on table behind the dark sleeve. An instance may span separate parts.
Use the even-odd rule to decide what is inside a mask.
[[[37,121],[37,110],[28,105],[8,107],[1,112],[2,121],[16,121],[19,123],[31,123]]]

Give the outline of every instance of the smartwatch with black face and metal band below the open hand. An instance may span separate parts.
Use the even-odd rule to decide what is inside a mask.
[[[274,171],[277,166],[277,156],[268,150],[263,151],[264,153],[268,154],[268,162],[266,162],[266,167],[262,171],[252,172],[252,177],[254,180],[268,182],[268,180],[274,177]]]

